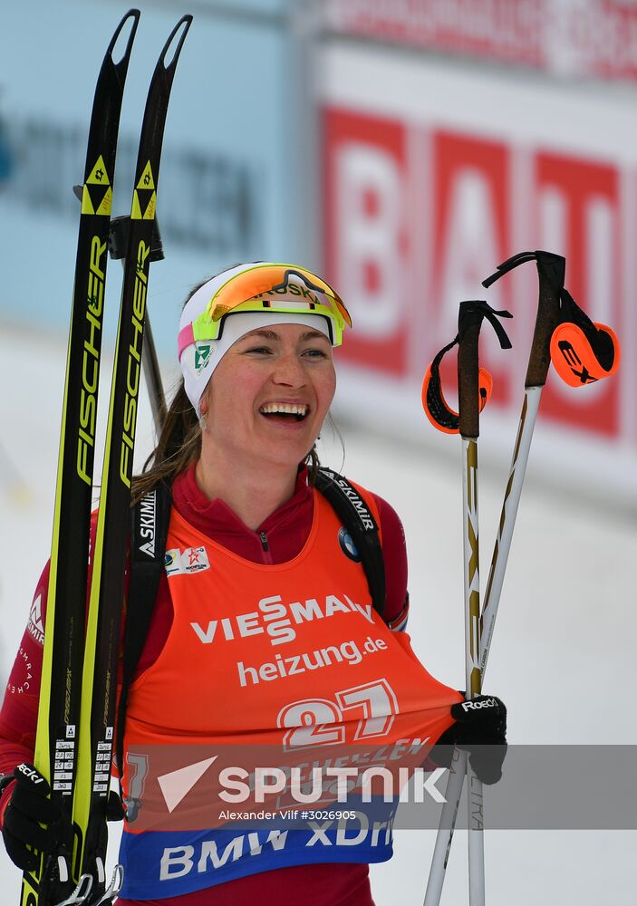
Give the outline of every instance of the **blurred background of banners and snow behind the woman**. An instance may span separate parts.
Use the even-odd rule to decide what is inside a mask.
[[[3,9],[3,685],[50,545],[79,207],[72,186],[82,182],[101,58],[127,8],[119,0],[26,0]],[[572,390],[549,376],[507,576],[512,600],[503,598],[487,685],[509,704],[514,742],[637,742],[623,705],[637,637],[629,574],[637,523],[637,3],[145,0],[141,9],[114,215],[130,209],[159,50],[181,14],[195,16],[159,178],[166,258],[150,271],[165,382],[175,381],[180,305],[207,275],[257,258],[304,263],[334,284],[355,331],[338,352],[334,414],[345,451],[338,438],[325,438],[323,458],[403,518],[412,602],[426,602],[412,607],[414,645],[431,672],[458,688],[459,441],[424,418],[424,371],[455,335],[460,300],[486,298],[514,313],[512,351],[500,352],[490,332],[481,344],[495,381],[480,436],[486,578],[536,316],[536,268],[519,268],[489,291],[481,281],[516,252],[563,254],[575,299],[619,334],[622,367],[609,381]],[[117,262],[109,275],[107,352]],[[144,409],[140,461],[152,439]],[[559,706],[547,709],[555,696]],[[433,838],[403,836],[396,858],[374,870],[379,906],[420,902],[424,893]],[[493,832],[491,901],[508,903],[515,892],[518,903],[632,903],[634,843],[634,833],[611,830],[558,838]],[[455,845],[448,902],[466,897],[466,860]],[[0,853],[5,876],[17,890],[17,873]]]

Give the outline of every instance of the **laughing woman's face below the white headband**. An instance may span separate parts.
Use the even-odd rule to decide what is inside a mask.
[[[296,468],[318,437],[333,400],[332,344],[303,324],[246,333],[210,379],[200,408],[214,456]]]

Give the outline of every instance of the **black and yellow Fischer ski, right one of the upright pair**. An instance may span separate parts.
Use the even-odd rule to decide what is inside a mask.
[[[170,90],[191,23],[191,15],[179,19],[159,54],[150,81],[130,208],[100,506],[92,550],[77,781],[72,810],[76,831],[73,878],[80,882],[82,874],[91,875],[93,890],[86,901],[91,904],[113,901],[121,887],[120,871],[116,872],[108,891],[104,891],[104,863],[130,524],[130,483],[161,146]]]

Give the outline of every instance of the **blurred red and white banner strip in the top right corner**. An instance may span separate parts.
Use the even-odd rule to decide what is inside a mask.
[[[571,77],[637,73],[637,10],[625,0],[324,0],[336,31],[536,66]]]

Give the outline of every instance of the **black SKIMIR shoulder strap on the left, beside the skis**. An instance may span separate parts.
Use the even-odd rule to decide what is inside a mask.
[[[124,721],[130,680],[135,672],[155,609],[169,532],[170,488],[163,481],[130,510],[129,593],[124,626],[123,676],[117,716],[117,765],[123,772]]]

